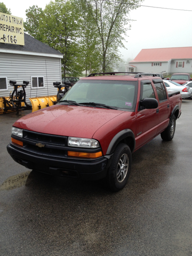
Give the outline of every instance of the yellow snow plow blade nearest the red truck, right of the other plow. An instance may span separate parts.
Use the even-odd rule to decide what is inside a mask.
[[[29,98],[29,100],[32,105],[32,112],[34,112],[42,108],[53,106],[53,101],[57,101],[57,95]]]

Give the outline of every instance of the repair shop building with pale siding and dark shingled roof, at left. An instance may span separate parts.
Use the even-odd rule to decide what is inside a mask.
[[[25,34],[25,45],[0,43],[0,97],[9,97],[13,91],[10,80],[26,88],[28,98],[55,95],[53,82],[61,82],[61,58],[63,55],[50,46]]]

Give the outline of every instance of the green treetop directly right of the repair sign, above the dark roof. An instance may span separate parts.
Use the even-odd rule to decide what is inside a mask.
[[[26,22],[24,22],[24,30],[29,35],[35,37],[37,40],[42,41],[43,35],[39,30],[39,23],[43,20],[43,10],[37,5],[33,5],[26,10]]]

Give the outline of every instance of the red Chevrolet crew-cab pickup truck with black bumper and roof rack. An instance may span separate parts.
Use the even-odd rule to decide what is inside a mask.
[[[91,74],[57,105],[13,124],[7,151],[15,162],[52,175],[106,178],[122,189],[131,153],[161,134],[172,140],[181,94],[168,94],[161,78],[143,74]]]

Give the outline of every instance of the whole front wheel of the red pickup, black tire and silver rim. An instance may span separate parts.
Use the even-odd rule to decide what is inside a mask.
[[[120,143],[114,152],[107,180],[112,191],[119,191],[125,187],[131,171],[131,150],[125,143]]]

